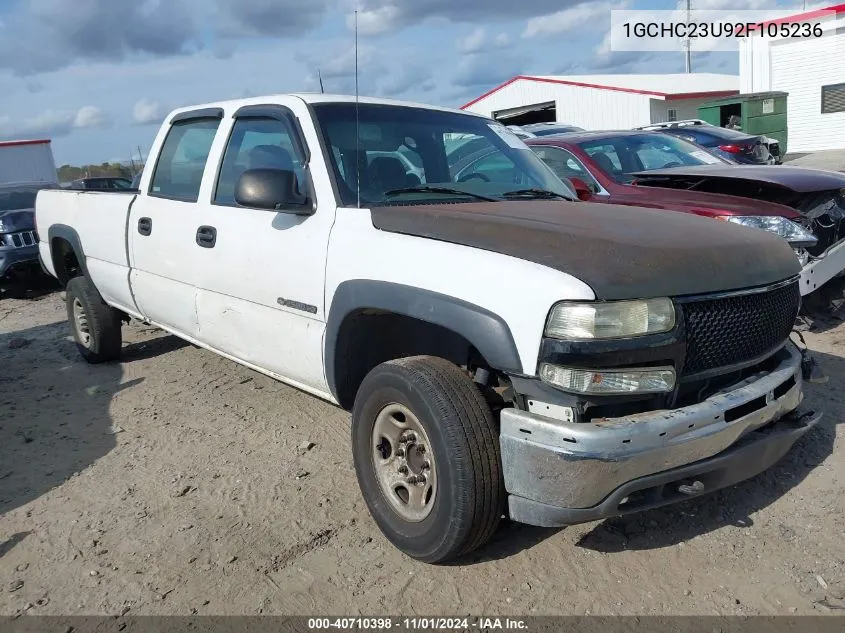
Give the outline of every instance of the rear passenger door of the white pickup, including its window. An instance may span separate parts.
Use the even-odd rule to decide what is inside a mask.
[[[197,199],[222,116],[222,109],[182,113],[159,133],[155,165],[129,217],[130,280],[139,309],[191,338],[199,327]]]

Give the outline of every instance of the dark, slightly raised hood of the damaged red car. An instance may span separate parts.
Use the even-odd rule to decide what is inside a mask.
[[[640,184],[652,178],[687,180],[690,177],[718,180],[745,180],[766,183],[789,189],[796,193],[811,193],[845,188],[845,174],[808,167],[787,165],[699,165],[697,167],[670,167],[633,174]],[[651,184],[651,183],[649,183]]]

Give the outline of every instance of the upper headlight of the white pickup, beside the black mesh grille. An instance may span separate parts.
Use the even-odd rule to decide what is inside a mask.
[[[671,299],[558,303],[546,323],[546,336],[566,340],[630,338],[675,327]]]

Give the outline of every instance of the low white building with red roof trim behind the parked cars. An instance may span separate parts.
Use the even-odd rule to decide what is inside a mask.
[[[505,124],[560,122],[588,130],[630,129],[696,118],[698,106],[739,92],[739,77],[670,75],[519,75],[464,110]]]

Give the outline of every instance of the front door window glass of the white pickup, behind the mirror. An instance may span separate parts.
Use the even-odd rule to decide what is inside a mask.
[[[238,179],[249,169],[284,169],[296,174],[299,190],[305,185],[302,156],[287,122],[270,117],[244,117],[235,121],[223,155],[214,202],[236,205]]]

